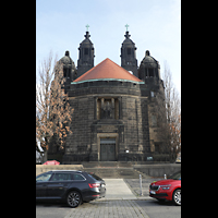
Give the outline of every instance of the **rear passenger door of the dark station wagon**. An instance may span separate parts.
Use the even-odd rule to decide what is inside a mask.
[[[56,172],[47,186],[48,197],[57,199],[62,198],[70,181],[71,173]]]

